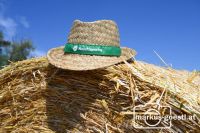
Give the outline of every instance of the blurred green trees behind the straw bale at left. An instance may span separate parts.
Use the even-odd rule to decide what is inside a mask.
[[[11,62],[27,59],[34,49],[31,40],[7,41],[0,31],[0,69]]]

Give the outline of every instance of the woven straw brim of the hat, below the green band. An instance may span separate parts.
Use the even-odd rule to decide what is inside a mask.
[[[122,55],[120,57],[65,54],[63,49],[64,47],[62,46],[49,50],[47,53],[49,62],[58,68],[75,71],[105,68],[136,55],[136,52],[130,48],[121,48]]]

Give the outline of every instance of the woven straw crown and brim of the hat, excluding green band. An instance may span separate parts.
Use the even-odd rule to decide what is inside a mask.
[[[75,20],[68,36],[68,43],[90,44],[120,47],[119,31],[116,23],[111,20],[82,22]],[[64,53],[64,47],[48,51],[47,58],[58,68],[83,71],[108,67],[136,55],[135,50],[122,48],[120,57],[91,56]]]

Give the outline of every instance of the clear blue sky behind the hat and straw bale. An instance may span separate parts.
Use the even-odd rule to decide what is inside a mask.
[[[155,50],[173,68],[200,70],[199,0],[0,0],[6,39],[31,39],[35,55],[64,45],[75,19],[116,21],[137,60],[163,66]]]

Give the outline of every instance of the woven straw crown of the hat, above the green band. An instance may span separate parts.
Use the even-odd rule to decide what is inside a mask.
[[[119,42],[119,30],[112,20],[75,20],[68,36],[68,43],[72,44],[120,46]]]

